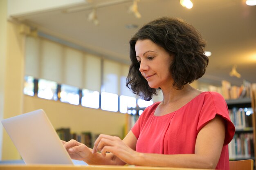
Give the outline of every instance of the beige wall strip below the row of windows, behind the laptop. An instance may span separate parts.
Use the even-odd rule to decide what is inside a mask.
[[[40,108],[45,110],[54,128],[68,127],[77,133],[90,131],[123,136],[125,114],[24,95],[24,113]]]

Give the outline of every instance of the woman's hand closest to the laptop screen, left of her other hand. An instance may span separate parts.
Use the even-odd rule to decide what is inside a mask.
[[[85,146],[74,139],[70,141],[61,141],[63,146],[66,148],[71,159],[76,159],[79,161],[85,161],[88,157],[92,155],[92,149]]]

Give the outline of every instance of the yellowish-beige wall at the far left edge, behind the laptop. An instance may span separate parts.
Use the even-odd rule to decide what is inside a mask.
[[[19,25],[7,21],[7,0],[0,1],[0,116],[1,119],[22,113],[22,89],[24,77],[25,35],[19,33]],[[2,160],[20,159],[11,139],[2,129]]]

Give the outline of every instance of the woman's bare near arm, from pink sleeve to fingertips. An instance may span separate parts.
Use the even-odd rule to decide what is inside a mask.
[[[100,150],[103,156],[106,152],[111,152],[123,162],[137,166],[215,169],[220,158],[224,139],[225,123],[222,117],[217,115],[198,133],[195,154],[162,155],[139,153],[129,149],[115,137],[110,136],[99,137],[95,141],[93,152]]]

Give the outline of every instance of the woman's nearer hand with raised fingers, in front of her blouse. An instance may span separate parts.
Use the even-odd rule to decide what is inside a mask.
[[[134,164],[135,158],[139,156],[139,152],[132,150],[119,137],[102,134],[94,142],[92,153],[97,151],[100,151],[103,156],[106,156],[106,152],[111,152],[122,161],[131,165]]]

